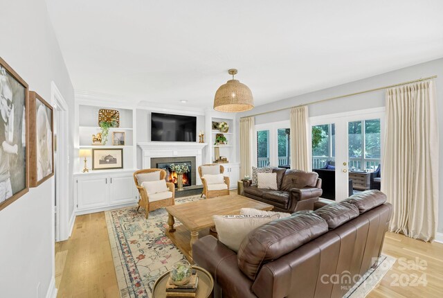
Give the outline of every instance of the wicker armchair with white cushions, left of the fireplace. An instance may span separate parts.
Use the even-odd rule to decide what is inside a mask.
[[[147,168],[134,172],[134,182],[140,193],[137,211],[140,207],[144,208],[145,218],[150,211],[175,204],[175,185],[166,182],[165,177],[166,171],[160,168]]]

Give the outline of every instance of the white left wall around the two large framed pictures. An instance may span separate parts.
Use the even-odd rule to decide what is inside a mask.
[[[73,86],[45,1],[0,0],[0,8],[1,57],[28,82],[30,90],[37,91],[47,101],[51,101],[51,81],[54,81],[69,104],[69,118],[73,119]],[[73,128],[70,130],[72,136]],[[71,157],[72,144],[70,137]],[[71,183],[72,179],[70,186]],[[52,277],[54,246],[53,184],[51,178],[0,211],[0,297],[46,296]],[[72,191],[70,202],[66,203],[72,211]]]

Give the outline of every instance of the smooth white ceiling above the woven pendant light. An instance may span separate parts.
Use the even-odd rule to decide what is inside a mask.
[[[443,57],[440,0],[46,2],[75,90],[135,103],[211,107],[237,68],[262,105]]]

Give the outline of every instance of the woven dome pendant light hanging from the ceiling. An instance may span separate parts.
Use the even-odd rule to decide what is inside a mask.
[[[237,69],[229,69],[228,73],[233,76],[233,79],[221,85],[217,92],[215,92],[214,109],[228,113],[244,112],[253,109],[254,100],[251,89],[239,82],[239,80],[234,80]]]

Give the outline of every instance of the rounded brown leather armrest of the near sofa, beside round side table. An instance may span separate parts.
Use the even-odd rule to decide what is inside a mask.
[[[237,254],[215,237],[209,235],[197,240],[192,245],[192,259],[213,275],[222,297],[256,298],[251,292],[251,279],[238,268]]]

